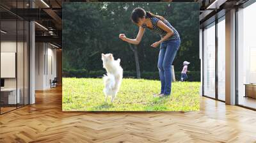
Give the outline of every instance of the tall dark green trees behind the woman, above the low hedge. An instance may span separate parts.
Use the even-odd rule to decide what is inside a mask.
[[[130,15],[138,6],[162,15],[179,31],[181,45],[173,62],[175,70],[181,70],[183,61],[190,61],[189,70],[199,71],[198,3],[63,3],[63,68],[99,71],[100,54],[113,53],[121,59],[124,71],[135,72],[133,52],[118,34],[136,37],[138,27],[132,24]],[[145,31],[138,45],[141,71],[157,72],[159,49],[150,45],[159,39],[159,35]]]

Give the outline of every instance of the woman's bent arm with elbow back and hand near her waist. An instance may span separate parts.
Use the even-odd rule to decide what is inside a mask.
[[[161,40],[156,41],[155,43],[152,43],[151,46],[152,46],[152,47],[155,47],[155,48],[156,48],[162,41],[165,41],[165,40],[167,40],[168,38],[170,38],[170,36],[173,36],[173,30],[172,30],[170,27],[166,26],[166,24],[164,24],[163,21],[158,20],[157,26],[160,27],[161,29],[163,29],[164,31],[166,31],[167,34],[166,34],[163,38],[161,38]]]

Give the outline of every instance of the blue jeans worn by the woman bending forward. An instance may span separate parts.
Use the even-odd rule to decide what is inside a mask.
[[[172,63],[179,47],[180,40],[168,40],[161,43],[157,64],[161,80],[161,94],[170,95],[172,92]]]

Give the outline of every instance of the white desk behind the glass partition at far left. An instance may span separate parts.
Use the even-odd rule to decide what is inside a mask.
[[[1,89],[1,102],[4,102],[4,104],[16,104],[16,102],[20,103],[20,89],[18,88],[17,91],[18,94],[16,98],[16,88]]]

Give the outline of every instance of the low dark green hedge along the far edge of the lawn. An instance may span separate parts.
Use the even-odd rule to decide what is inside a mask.
[[[63,77],[90,77],[90,78],[95,78],[95,77],[102,77],[102,75],[106,74],[104,70],[99,70],[99,71],[87,71],[85,69],[63,69]],[[136,72],[131,72],[131,71],[124,71],[124,77],[129,77],[129,78],[135,78],[136,77]],[[141,72],[141,78],[142,79],[154,79],[158,80],[159,79],[159,72]],[[175,72],[175,78],[176,80],[180,80],[180,72]],[[188,81],[200,81],[200,72],[198,71],[190,71],[188,72]]]

